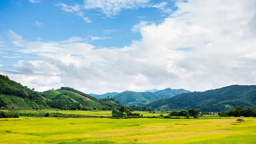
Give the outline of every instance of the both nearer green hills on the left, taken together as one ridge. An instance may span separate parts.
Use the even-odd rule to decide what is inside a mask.
[[[114,99],[98,100],[69,87],[36,92],[0,75],[0,107],[5,108],[58,108],[68,110],[113,110],[121,104]]]

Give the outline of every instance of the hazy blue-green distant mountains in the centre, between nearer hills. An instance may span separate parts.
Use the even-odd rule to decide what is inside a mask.
[[[159,100],[161,98],[171,98],[177,94],[183,92],[190,92],[184,89],[172,90],[170,88],[160,90],[157,92],[132,92],[125,91],[114,96],[115,100],[121,104],[136,105],[136,106],[145,106],[148,103]]]

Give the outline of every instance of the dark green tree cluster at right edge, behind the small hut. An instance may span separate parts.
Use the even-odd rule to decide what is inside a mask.
[[[256,117],[256,108],[254,107],[245,107],[244,105],[240,105],[236,108],[230,108],[227,111],[218,113],[220,116],[245,116],[245,117]]]

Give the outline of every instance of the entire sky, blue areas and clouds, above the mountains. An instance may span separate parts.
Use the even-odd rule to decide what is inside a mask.
[[[256,84],[255,0],[1,0],[0,74],[43,92]]]

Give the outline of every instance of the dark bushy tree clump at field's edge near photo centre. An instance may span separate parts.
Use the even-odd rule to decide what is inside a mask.
[[[119,118],[134,118],[134,117],[139,117],[140,113],[132,113],[127,107],[125,106],[120,106],[118,110],[113,110],[112,111],[112,118],[119,119]],[[141,116],[143,116],[141,114]]]

